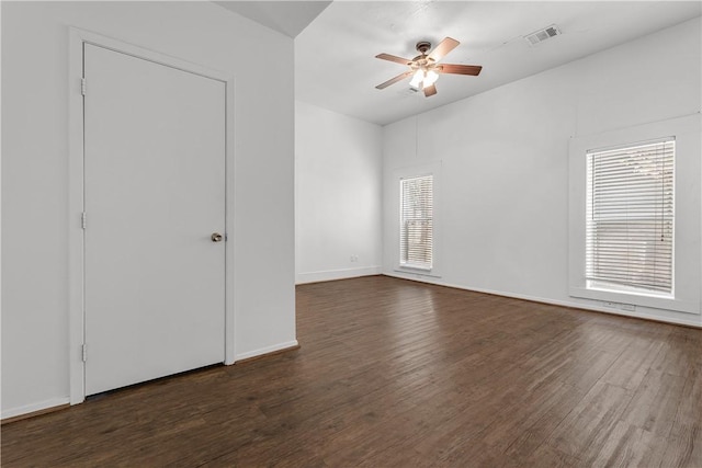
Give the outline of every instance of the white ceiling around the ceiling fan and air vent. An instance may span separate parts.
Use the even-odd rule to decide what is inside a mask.
[[[222,4],[223,2],[217,2]],[[702,14],[700,1],[234,1],[227,8],[295,37],[295,99],[385,125],[557,67]],[[315,8],[316,4],[316,8]],[[259,16],[257,19],[256,16]],[[261,20],[261,16],[264,16]],[[305,22],[308,25],[305,27]],[[563,35],[523,38],[556,24]],[[461,42],[442,62],[482,65],[478,77],[442,75],[424,98],[409,79],[375,89],[405,67],[418,41]]]

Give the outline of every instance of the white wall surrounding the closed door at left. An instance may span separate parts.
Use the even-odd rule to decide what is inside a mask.
[[[294,344],[293,39],[210,2],[1,8],[2,416],[68,401],[68,26],[235,77],[235,353]]]

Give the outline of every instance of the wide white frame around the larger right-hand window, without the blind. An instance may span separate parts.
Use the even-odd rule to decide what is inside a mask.
[[[700,313],[701,189],[700,114],[573,137],[569,142],[568,293],[571,297]],[[673,290],[670,295],[589,287],[586,278],[586,208],[588,152],[638,142],[676,139],[673,174]]]

